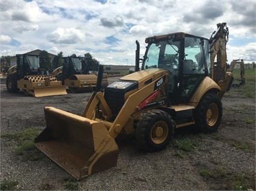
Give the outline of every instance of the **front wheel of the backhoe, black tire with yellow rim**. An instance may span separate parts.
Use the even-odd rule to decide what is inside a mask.
[[[159,151],[169,144],[173,131],[174,123],[168,113],[151,110],[144,113],[137,123],[135,137],[145,150]]]

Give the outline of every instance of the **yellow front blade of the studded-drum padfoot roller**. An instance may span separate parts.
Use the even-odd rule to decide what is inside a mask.
[[[34,87],[36,98],[43,96],[67,95],[66,86],[40,86]]]

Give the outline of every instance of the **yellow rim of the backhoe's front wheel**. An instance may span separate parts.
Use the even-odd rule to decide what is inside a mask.
[[[151,140],[155,144],[163,143],[168,137],[168,125],[165,122],[157,122],[151,129]]]

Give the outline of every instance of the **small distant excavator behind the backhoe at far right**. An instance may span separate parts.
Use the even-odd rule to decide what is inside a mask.
[[[240,80],[237,79],[239,83],[233,82],[232,87],[240,87],[245,84],[245,63],[243,63],[243,59],[232,60],[228,68],[228,72],[233,72],[234,66],[237,64],[240,65]]]

